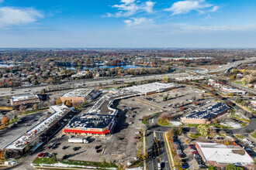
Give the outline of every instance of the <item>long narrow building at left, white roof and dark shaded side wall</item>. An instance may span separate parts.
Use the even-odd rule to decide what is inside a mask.
[[[29,145],[30,147],[38,144],[43,145],[43,141],[47,140],[47,138],[50,138],[52,134],[57,132],[57,129],[64,124],[64,122],[61,123],[61,121],[67,121],[71,113],[71,109],[65,105],[51,106],[49,111],[52,113],[49,117],[39,124],[36,124],[36,126],[29,131],[24,131],[22,136],[15,141],[12,141],[12,143],[7,145],[4,150],[11,151],[13,155],[22,155],[26,145]]]

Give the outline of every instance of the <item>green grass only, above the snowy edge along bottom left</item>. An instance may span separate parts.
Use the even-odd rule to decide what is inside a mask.
[[[61,160],[61,161],[54,161],[52,158],[36,158],[33,161],[33,164],[40,165],[40,164],[54,164],[60,162],[62,164],[67,165],[84,165],[84,166],[92,166],[92,167],[99,167],[99,168],[118,168],[117,165],[107,162],[83,162],[83,161],[74,161],[74,160]]]

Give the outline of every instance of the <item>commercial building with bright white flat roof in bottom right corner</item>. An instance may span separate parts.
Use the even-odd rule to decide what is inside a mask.
[[[229,164],[246,167],[254,163],[253,158],[239,145],[206,142],[196,142],[195,145],[206,165],[224,168]]]

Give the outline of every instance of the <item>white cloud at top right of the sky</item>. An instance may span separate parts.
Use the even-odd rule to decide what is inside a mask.
[[[209,8],[211,8],[209,10]],[[185,0],[175,2],[171,5],[171,8],[166,8],[164,11],[172,12],[171,15],[186,14],[191,11],[197,11],[199,13],[205,13],[205,10],[215,12],[218,9],[217,6],[211,5],[205,0]]]

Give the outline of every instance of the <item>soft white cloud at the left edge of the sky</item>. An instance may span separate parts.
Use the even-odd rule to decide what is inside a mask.
[[[43,15],[33,8],[0,7],[0,28],[36,22]]]

